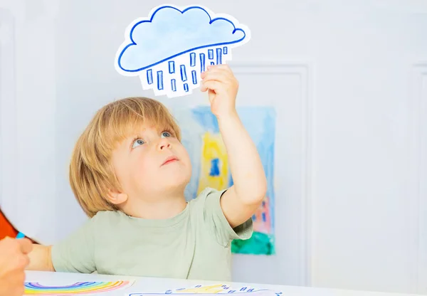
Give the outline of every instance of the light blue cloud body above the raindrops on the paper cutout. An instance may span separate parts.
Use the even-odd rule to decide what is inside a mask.
[[[138,72],[199,48],[239,43],[246,38],[227,18],[212,19],[199,7],[183,11],[173,6],[156,9],[149,20],[130,30],[130,44],[120,52],[117,64],[126,72]]]

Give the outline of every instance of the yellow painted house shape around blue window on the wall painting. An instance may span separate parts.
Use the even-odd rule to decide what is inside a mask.
[[[211,176],[212,160],[218,159],[219,174]],[[223,190],[228,187],[228,157],[221,134],[206,132],[203,136],[201,170],[199,176],[200,194],[206,187]]]

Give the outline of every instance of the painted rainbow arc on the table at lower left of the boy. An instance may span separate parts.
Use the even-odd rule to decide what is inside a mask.
[[[26,282],[24,295],[88,295],[130,287],[133,282],[75,282],[71,285],[41,285],[39,282]]]

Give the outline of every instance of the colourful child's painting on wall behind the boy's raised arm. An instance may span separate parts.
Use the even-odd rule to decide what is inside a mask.
[[[222,190],[233,185],[226,147],[218,122],[209,106],[174,109],[182,129],[182,142],[189,152],[193,176],[186,188],[187,199],[193,199],[206,187]],[[273,107],[240,107],[241,117],[260,154],[268,180],[268,191],[262,206],[253,216],[254,233],[249,240],[233,240],[233,253],[273,255],[274,227],[274,143],[275,111]]]

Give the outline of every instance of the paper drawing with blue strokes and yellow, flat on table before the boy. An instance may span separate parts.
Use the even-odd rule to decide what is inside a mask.
[[[223,294],[233,294],[238,296],[280,296],[282,292],[276,292],[267,289],[255,289],[253,287],[231,287],[229,285],[195,285],[194,287],[181,287],[175,290],[167,290],[162,293],[131,293],[129,296],[159,296],[159,295],[186,295],[197,296],[203,294],[204,296],[216,296]]]

